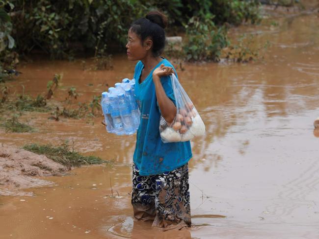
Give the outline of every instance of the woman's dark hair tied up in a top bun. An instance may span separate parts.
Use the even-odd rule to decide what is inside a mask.
[[[142,42],[150,37],[153,41],[152,53],[155,57],[160,56],[165,47],[165,31],[167,17],[159,11],[149,12],[145,18],[133,22],[130,29],[138,35]]]

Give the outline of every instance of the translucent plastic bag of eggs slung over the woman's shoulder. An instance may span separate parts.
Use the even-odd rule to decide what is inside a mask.
[[[205,124],[174,74],[171,75],[171,81],[177,114],[170,125],[161,116],[160,137],[162,142],[185,142],[196,136],[204,135]]]

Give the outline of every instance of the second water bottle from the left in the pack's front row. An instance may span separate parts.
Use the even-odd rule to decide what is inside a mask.
[[[124,126],[120,114],[119,104],[118,104],[118,97],[114,96],[113,93],[115,91],[111,92],[109,95],[109,106],[110,106],[110,113],[113,120],[113,126],[114,126],[114,133],[117,135],[124,135]]]

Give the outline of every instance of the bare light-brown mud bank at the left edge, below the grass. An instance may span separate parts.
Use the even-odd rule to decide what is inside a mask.
[[[0,145],[0,195],[32,195],[32,192],[22,189],[53,184],[37,177],[61,175],[68,170],[44,155]]]

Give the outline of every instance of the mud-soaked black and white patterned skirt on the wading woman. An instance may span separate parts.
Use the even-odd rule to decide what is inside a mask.
[[[151,176],[139,175],[133,164],[132,205],[134,218],[154,220],[153,227],[190,227],[188,164]]]

